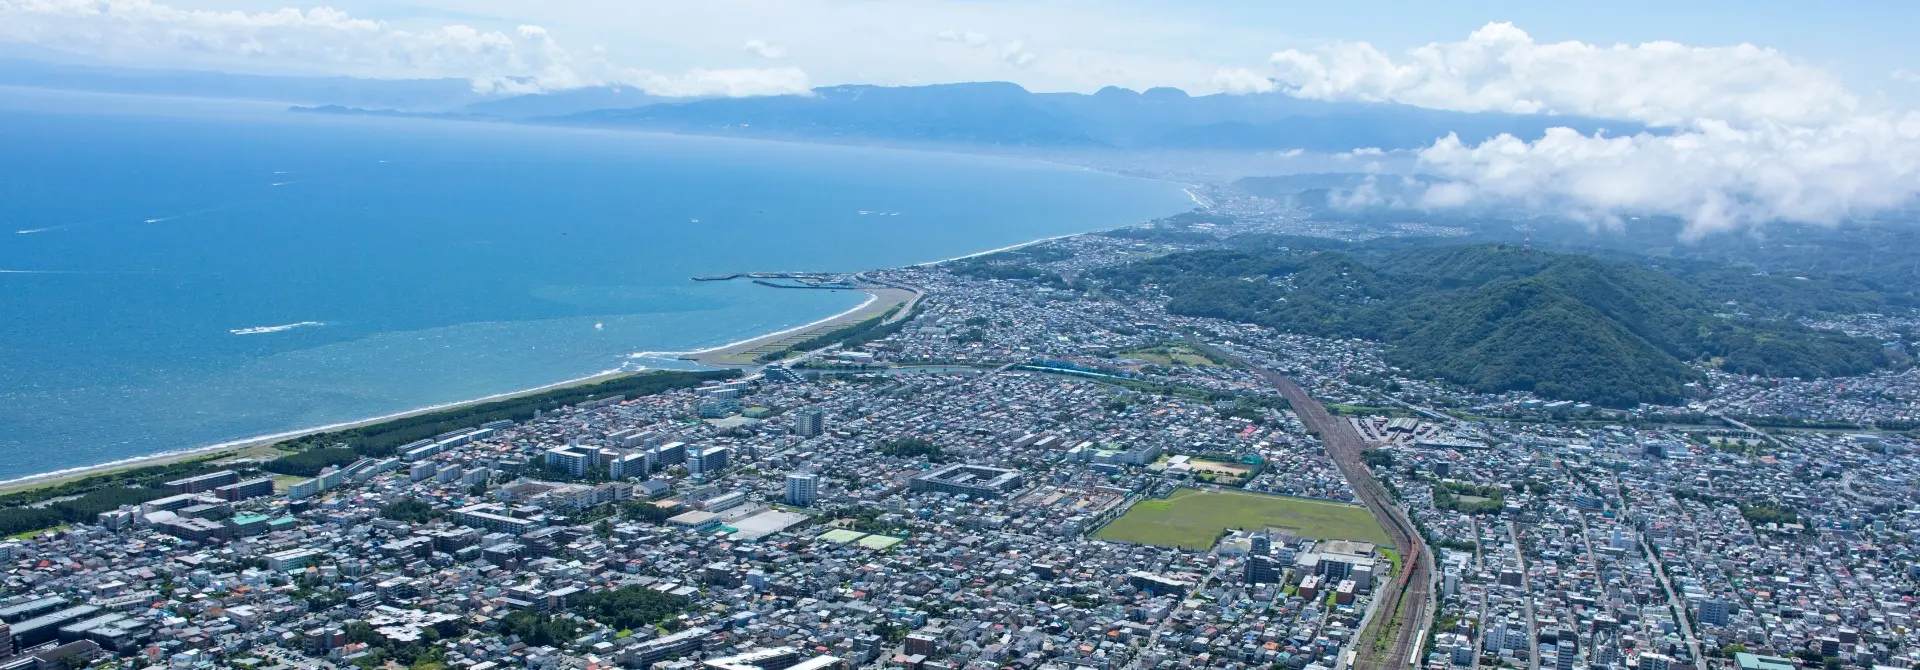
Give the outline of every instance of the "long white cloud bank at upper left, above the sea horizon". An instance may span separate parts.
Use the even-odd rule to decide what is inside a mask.
[[[311,69],[357,77],[457,77],[486,92],[630,84],[660,96],[751,96],[808,90],[780,69],[693,69],[662,75],[561,46],[543,27],[401,29],[332,8],[273,12],[180,10],[152,0],[0,0],[0,40],[144,61]]]

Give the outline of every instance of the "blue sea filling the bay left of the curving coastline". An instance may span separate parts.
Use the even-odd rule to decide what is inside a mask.
[[[0,88],[0,480],[668,367],[634,355],[866,298],[697,275],[1188,207],[1010,159]]]

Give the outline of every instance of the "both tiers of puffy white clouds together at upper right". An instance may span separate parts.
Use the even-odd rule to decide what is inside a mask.
[[[1488,23],[1398,60],[1346,42],[1277,52],[1271,63],[1281,88],[1300,98],[1672,129],[1553,129],[1532,142],[1498,136],[1476,146],[1446,136],[1419,154],[1423,171],[1452,180],[1427,190],[1430,207],[1519,202],[1597,223],[1672,215],[1697,238],[1772,221],[1832,225],[1920,196],[1920,113],[1866,111],[1834,75],[1751,44],[1540,44]]]

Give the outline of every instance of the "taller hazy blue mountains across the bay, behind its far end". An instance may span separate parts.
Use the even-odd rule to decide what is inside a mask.
[[[810,96],[708,98],[591,109],[545,123],[783,140],[985,144],[1116,150],[1405,150],[1448,132],[1478,142],[1534,138],[1549,127],[1640,132],[1588,117],[1457,113],[1286,94],[1188,96],[1179,88],[1029,92],[1010,83],[826,86]]]

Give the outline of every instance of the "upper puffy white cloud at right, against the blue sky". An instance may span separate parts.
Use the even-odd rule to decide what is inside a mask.
[[[1457,111],[1578,113],[1678,125],[1824,123],[1857,98],[1839,79],[1753,44],[1534,42],[1511,23],[1488,23],[1461,42],[1388,56],[1367,42],[1315,54],[1277,52],[1277,79],[1294,96],[1402,102]]]

